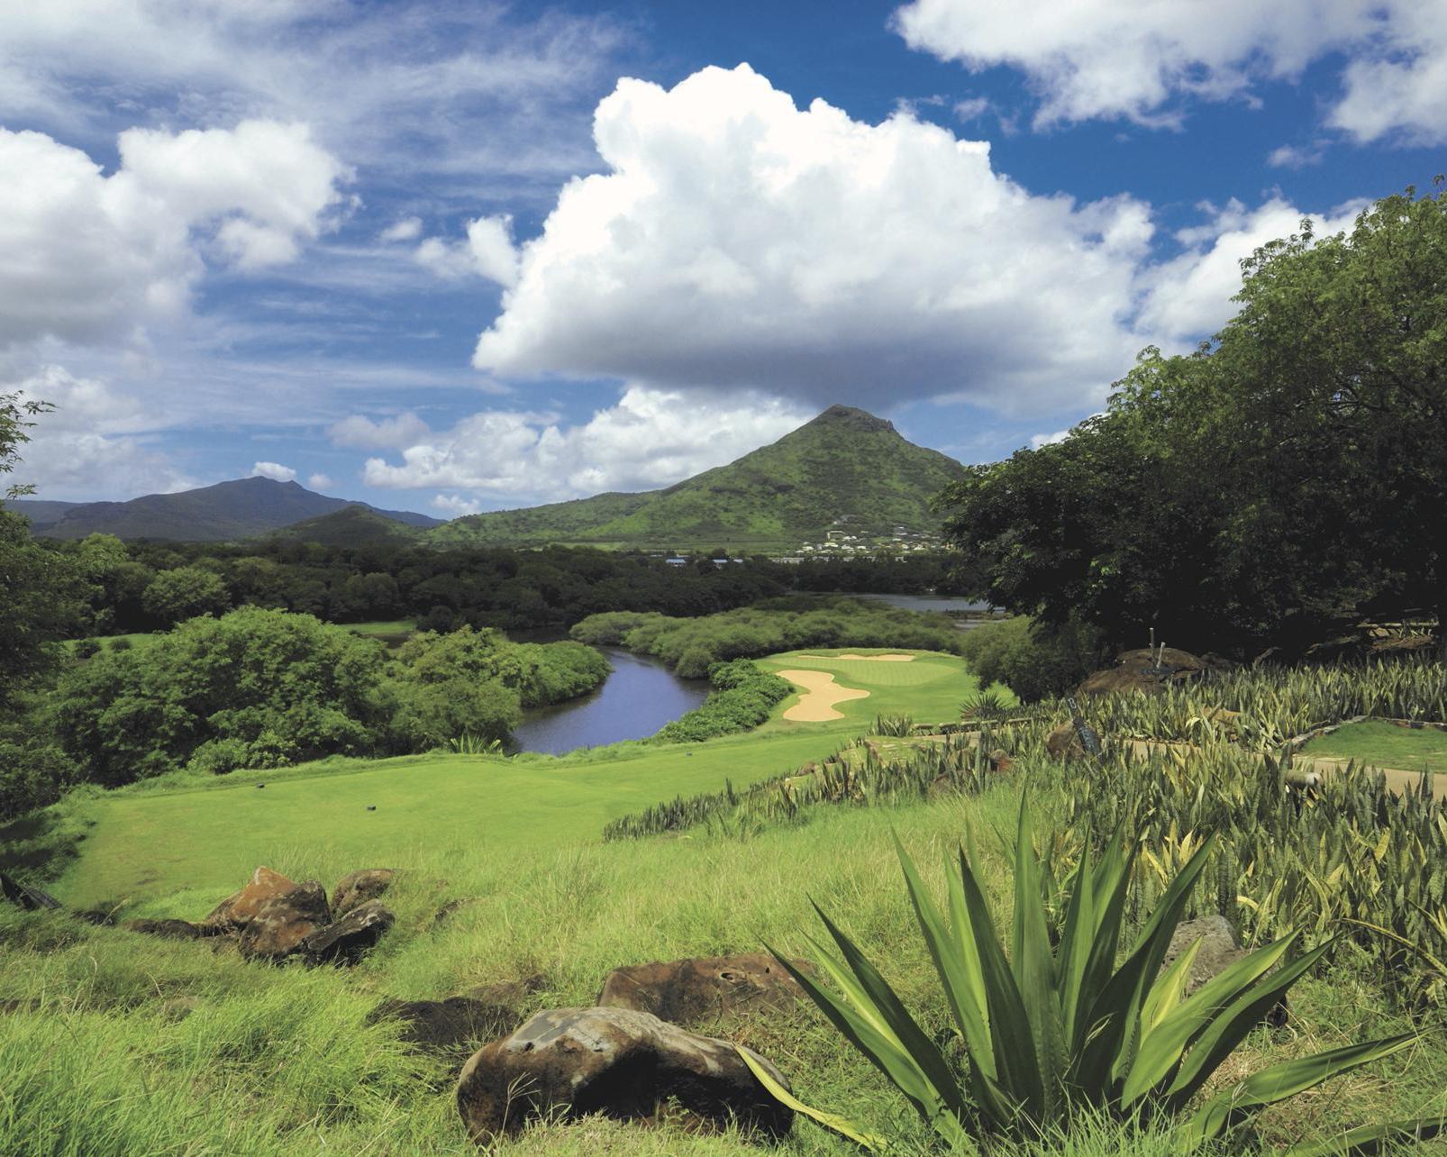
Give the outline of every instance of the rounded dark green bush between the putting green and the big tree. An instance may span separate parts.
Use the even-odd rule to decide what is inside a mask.
[[[1024,701],[1064,694],[1100,665],[1100,635],[1079,620],[1046,628],[1017,615],[961,633],[980,684],[1003,683]]]

